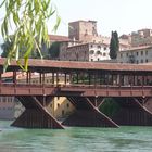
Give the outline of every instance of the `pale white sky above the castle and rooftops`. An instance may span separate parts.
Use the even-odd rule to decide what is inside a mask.
[[[2,0],[0,0],[0,3]],[[130,34],[142,28],[152,28],[152,0],[52,0],[61,16],[58,35],[68,35],[68,22],[78,20],[97,21],[98,33],[111,36]],[[0,20],[4,11],[0,10]],[[52,33],[54,18],[48,21]]]

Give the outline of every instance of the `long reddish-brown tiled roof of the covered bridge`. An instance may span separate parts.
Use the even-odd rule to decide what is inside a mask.
[[[0,69],[2,71],[5,59],[0,59]],[[118,71],[118,72],[152,72],[152,64],[122,64],[101,62],[75,62],[75,61],[53,61],[53,60],[31,60],[29,68],[37,71],[51,69],[87,69],[87,71]],[[11,62],[10,68],[18,68],[15,61]]]

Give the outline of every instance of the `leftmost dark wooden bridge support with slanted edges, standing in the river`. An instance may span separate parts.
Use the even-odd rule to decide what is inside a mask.
[[[23,114],[12,126],[23,128],[52,128],[63,129],[63,126],[47,111],[49,102],[43,102],[47,97],[17,97],[25,106]],[[46,106],[45,106],[46,105]]]

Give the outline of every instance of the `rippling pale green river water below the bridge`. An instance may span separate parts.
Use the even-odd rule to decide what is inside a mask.
[[[152,127],[22,129],[0,122],[0,152],[151,152]]]

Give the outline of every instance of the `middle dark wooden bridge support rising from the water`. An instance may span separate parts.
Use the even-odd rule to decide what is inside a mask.
[[[118,127],[117,124],[98,110],[98,106],[93,104],[91,99],[83,97],[68,97],[67,99],[75,105],[76,111],[62,123],[63,125],[79,127]],[[101,103],[97,105],[100,104]]]

